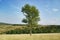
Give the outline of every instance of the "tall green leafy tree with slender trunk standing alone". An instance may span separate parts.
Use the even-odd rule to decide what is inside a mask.
[[[35,27],[38,25],[38,21],[40,20],[39,17],[39,11],[36,9],[35,6],[31,6],[29,4],[26,4],[22,7],[21,10],[26,17],[22,20],[22,22],[27,23],[27,26],[30,29],[30,35],[32,34],[32,27]]]

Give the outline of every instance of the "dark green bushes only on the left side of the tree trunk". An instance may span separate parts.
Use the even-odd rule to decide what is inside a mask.
[[[29,29],[27,27],[24,27],[24,28],[18,28],[18,29],[15,29],[15,30],[10,30],[10,31],[7,31],[5,32],[6,34],[28,34],[29,33]]]

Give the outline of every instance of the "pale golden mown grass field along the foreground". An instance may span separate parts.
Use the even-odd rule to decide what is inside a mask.
[[[60,33],[0,35],[0,40],[60,40]]]

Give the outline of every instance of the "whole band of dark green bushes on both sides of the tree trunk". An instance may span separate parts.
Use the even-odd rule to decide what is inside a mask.
[[[22,27],[5,32],[6,34],[29,34],[29,27]],[[60,33],[60,26],[32,27],[32,33]]]

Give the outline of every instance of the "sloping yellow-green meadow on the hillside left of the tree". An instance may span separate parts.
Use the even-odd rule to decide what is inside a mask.
[[[23,27],[23,26],[22,26]],[[0,34],[6,32],[6,31],[10,31],[10,30],[14,30],[14,29],[18,29],[18,28],[22,28],[21,26],[12,26],[12,25],[0,25]]]

